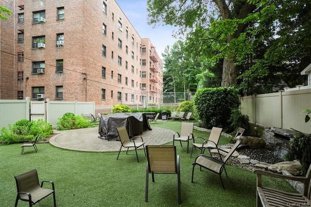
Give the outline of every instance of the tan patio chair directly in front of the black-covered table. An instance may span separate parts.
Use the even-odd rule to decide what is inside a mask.
[[[119,137],[120,137],[120,141],[121,141],[121,147],[120,147],[117,159],[119,158],[119,155],[120,155],[122,147],[127,148],[126,155],[127,155],[128,149],[130,147],[134,147],[138,162],[139,162],[139,160],[138,160],[138,155],[137,155],[137,148],[142,146],[144,148],[144,152],[145,152],[145,156],[146,156],[145,143],[142,140],[142,137],[136,136],[136,137],[133,137],[132,139],[130,139],[129,136],[128,136],[128,133],[126,131],[126,128],[124,126],[118,127],[117,131],[118,131],[118,134],[119,134]],[[139,138],[141,139],[141,142],[135,141],[135,140],[137,140]]]

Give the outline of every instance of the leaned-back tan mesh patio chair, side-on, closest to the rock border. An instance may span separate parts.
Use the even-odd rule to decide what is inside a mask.
[[[234,151],[237,149],[237,147],[240,145],[241,140],[238,139],[237,142],[234,144],[234,146],[231,148],[231,150],[227,153],[225,150],[217,148],[217,147],[209,147],[211,149],[217,149],[218,153],[219,151],[223,151],[225,153],[227,153],[227,155],[224,157],[224,159],[222,159],[221,154],[219,153],[219,157],[213,157],[210,155],[198,155],[195,158],[195,161],[193,162],[193,167],[192,167],[192,176],[191,176],[191,183],[193,183],[193,173],[194,173],[194,167],[196,165],[200,166],[200,171],[201,168],[205,168],[211,172],[217,173],[220,176],[220,180],[222,182],[223,185],[223,189],[225,190],[225,186],[222,180],[222,172],[223,170],[225,170],[225,164],[227,162],[227,160],[230,158],[230,156],[234,153]],[[225,170],[225,175],[228,177],[227,172]]]

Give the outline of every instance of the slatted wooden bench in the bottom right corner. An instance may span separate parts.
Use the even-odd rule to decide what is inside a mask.
[[[279,173],[272,173],[254,169],[253,173],[257,175],[257,206],[310,206],[310,192],[311,192],[311,165],[306,176],[283,175]],[[273,178],[294,180],[303,183],[303,193],[290,193],[286,191],[276,190],[262,186],[261,176],[269,176]]]

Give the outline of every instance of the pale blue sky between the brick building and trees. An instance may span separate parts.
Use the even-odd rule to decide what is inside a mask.
[[[141,38],[149,38],[155,50],[163,60],[162,52],[167,45],[172,46],[178,39],[172,37],[173,31],[178,28],[173,26],[147,24],[147,0],[116,0],[125,16],[132,23]],[[153,28],[155,26],[155,28]]]

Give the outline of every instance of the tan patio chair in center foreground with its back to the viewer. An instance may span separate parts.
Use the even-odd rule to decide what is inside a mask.
[[[179,155],[176,155],[174,145],[147,145],[146,194],[148,202],[149,173],[155,182],[155,173],[177,174],[178,204],[181,204]]]

